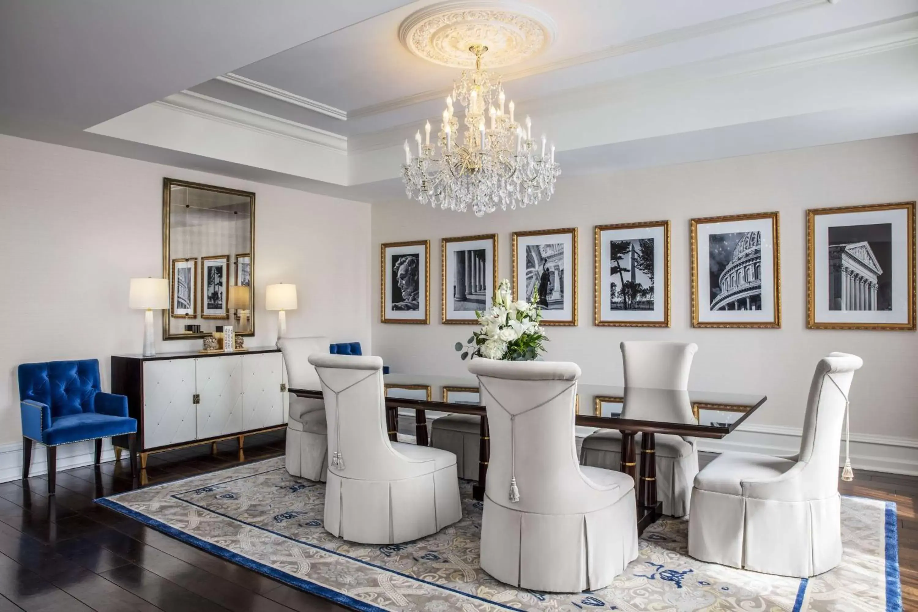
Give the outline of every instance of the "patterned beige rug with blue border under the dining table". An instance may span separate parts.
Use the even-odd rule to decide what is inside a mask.
[[[478,567],[481,503],[462,485],[464,516],[422,540],[369,546],[322,529],[325,487],[285,472],[283,458],[97,500],[154,529],[356,610],[900,612],[892,504],[842,501],[845,561],[809,580],[703,563],[685,520],[657,521],[640,556],[591,593],[520,590]]]

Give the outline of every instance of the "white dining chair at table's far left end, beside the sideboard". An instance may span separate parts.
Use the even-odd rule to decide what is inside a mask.
[[[282,338],[277,348],[284,355],[287,384],[294,389],[318,389],[319,376],[309,355],[328,354],[329,339],[323,336]],[[286,435],[286,471],[314,481],[325,481],[328,468],[328,436],[325,405],[320,399],[289,394]]]

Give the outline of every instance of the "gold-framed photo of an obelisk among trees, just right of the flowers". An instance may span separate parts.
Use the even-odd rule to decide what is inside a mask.
[[[593,323],[669,327],[669,221],[596,226]]]

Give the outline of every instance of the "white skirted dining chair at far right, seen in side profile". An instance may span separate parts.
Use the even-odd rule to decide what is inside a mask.
[[[838,458],[859,357],[831,353],[816,366],[800,453],[724,452],[695,478],[689,555],[806,578],[842,560]]]

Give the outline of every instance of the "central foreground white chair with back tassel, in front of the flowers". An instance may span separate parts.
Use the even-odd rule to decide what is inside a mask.
[[[631,476],[577,462],[580,368],[475,359],[490,428],[481,568],[536,591],[610,584],[637,557]]]

